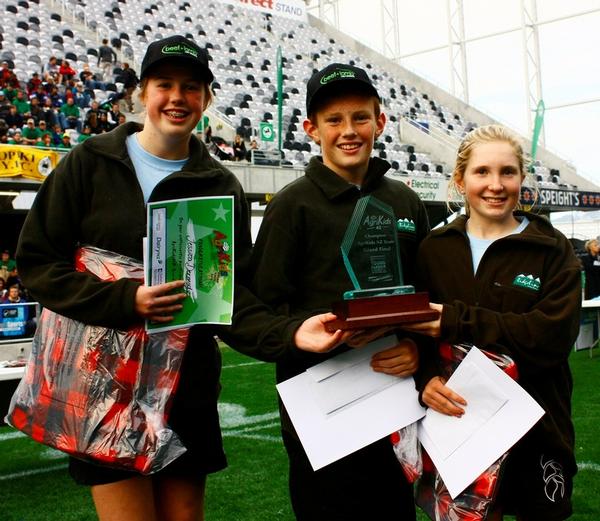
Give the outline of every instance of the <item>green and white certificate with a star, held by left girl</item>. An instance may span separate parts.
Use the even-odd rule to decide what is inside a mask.
[[[233,196],[148,203],[147,282],[154,286],[183,280],[186,294],[174,320],[146,321],[148,332],[231,324],[233,204]]]

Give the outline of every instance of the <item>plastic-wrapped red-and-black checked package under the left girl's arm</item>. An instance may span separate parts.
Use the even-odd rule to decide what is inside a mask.
[[[75,266],[101,280],[143,280],[134,259],[98,248]],[[151,474],[185,452],[167,424],[188,329],[148,335],[91,326],[44,309],[6,421],[77,458]]]

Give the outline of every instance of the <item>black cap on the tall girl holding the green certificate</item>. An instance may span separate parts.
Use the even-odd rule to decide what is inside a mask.
[[[188,62],[193,67],[194,72],[197,72],[208,83],[212,83],[215,79],[213,73],[208,68],[208,54],[206,50],[180,35],[156,40],[148,45],[148,49],[146,49],[146,54],[142,60],[140,78],[147,76],[149,69],[154,67],[154,65],[167,60],[183,60]]]

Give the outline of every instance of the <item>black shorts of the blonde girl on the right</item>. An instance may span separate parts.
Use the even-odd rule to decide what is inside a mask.
[[[524,521],[562,521],[571,516],[573,475],[556,454],[517,444],[503,469],[498,504]]]

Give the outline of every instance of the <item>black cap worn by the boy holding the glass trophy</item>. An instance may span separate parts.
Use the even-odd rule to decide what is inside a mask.
[[[373,86],[368,74],[359,67],[344,63],[332,63],[315,72],[306,85],[306,113],[310,114],[315,100],[333,88],[350,86],[354,83],[361,91],[370,92],[379,99],[379,93]]]

